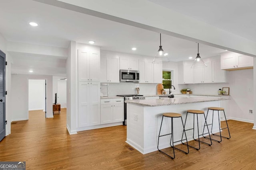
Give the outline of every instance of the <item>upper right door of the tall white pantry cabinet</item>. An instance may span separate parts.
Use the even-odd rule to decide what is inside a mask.
[[[100,82],[100,55],[90,54],[90,81]]]

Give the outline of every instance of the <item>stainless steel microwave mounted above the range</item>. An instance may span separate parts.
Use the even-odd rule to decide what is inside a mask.
[[[139,70],[120,70],[120,82],[139,82]]]

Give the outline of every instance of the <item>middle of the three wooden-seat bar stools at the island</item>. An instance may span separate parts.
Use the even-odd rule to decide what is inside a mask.
[[[209,137],[210,137],[210,131],[209,131],[209,129],[208,129],[208,126],[206,126],[207,129],[208,129],[208,133],[204,133],[204,130],[203,130],[202,134],[199,135],[198,114],[203,114],[203,115],[204,115],[204,111],[203,111],[203,110],[187,110],[187,114],[186,114],[186,119],[185,119],[185,125],[184,125],[184,127],[186,126],[186,121],[187,121],[188,113],[192,113],[193,116],[194,116],[193,128],[191,128],[191,129],[186,129],[185,131],[188,131],[188,130],[192,130],[192,129],[193,129],[193,139],[194,139],[195,141],[198,141],[199,148],[196,148],[196,147],[193,147],[193,146],[191,146],[191,145],[188,145],[188,142],[187,142],[187,143],[183,143],[183,144],[184,144],[184,145],[188,145],[189,147],[192,147],[192,148],[194,148],[194,149],[196,149],[196,150],[199,150],[199,149],[200,149],[200,142],[201,142],[201,143],[204,143],[204,144],[206,144],[206,145],[211,146],[211,145],[212,145],[212,140],[210,140],[211,143],[205,143],[205,142],[203,142],[203,141],[200,141],[200,139],[199,139],[200,136],[203,136],[203,135],[205,135],[205,134],[209,134]],[[195,137],[194,137],[194,131],[195,131],[195,115],[196,115],[196,118],[197,118],[197,133],[198,133],[198,139],[195,139]],[[205,124],[207,125],[205,115],[204,115],[204,120],[205,120]],[[182,134],[182,137],[183,137],[183,134]],[[211,139],[211,137],[210,137],[209,139]]]

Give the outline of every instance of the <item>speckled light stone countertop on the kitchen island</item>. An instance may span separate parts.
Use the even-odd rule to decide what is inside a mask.
[[[148,99],[148,100],[128,100],[125,101],[129,104],[136,104],[141,106],[167,106],[167,105],[179,105],[179,104],[190,104],[200,102],[212,102],[230,100],[230,98],[216,98],[216,97],[194,97],[194,98],[162,98],[162,99]]]

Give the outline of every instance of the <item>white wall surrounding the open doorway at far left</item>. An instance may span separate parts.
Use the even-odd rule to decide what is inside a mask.
[[[12,94],[11,94],[11,111],[12,121],[28,119],[28,80],[29,79],[44,79],[46,80],[46,116],[52,115],[52,76],[42,75],[26,75],[12,74]]]

